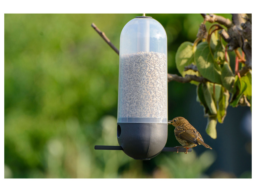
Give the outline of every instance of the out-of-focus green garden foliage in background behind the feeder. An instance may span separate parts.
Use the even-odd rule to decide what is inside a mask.
[[[5,178],[209,177],[204,172],[216,159],[213,151],[162,152],[139,161],[121,151],[94,150],[95,145],[118,145],[119,57],[91,24],[119,48],[122,28],[140,15],[5,14]],[[202,17],[148,15],[165,28],[168,71],[178,74],[177,48],[195,39]],[[169,117],[184,114],[178,103],[195,87],[175,82],[168,87],[175,100],[169,102]],[[172,131],[166,145],[177,145]]]

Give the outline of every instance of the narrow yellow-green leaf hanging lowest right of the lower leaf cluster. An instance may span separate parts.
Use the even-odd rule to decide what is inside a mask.
[[[218,102],[218,111],[217,111],[217,119],[220,123],[223,123],[224,118],[226,116],[228,99],[229,99],[229,92],[224,87],[222,87],[219,102]]]

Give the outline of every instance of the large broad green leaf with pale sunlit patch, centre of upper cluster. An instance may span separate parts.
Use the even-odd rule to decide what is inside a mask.
[[[200,74],[213,83],[221,84],[221,68],[214,62],[207,42],[200,42],[194,54]]]

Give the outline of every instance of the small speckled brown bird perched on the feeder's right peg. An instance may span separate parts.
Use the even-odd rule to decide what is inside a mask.
[[[203,145],[206,148],[212,149],[204,142],[200,133],[184,117],[175,117],[171,121],[168,121],[168,124],[171,124],[175,127],[175,137],[177,141],[182,145],[175,147],[177,148],[177,153],[179,152],[180,147],[184,147],[187,149],[187,154],[189,148],[195,147],[197,145]]]

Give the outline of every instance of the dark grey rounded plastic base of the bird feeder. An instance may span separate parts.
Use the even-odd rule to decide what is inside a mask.
[[[117,123],[117,141],[129,157],[149,160],[164,148],[167,127],[167,123]]]

